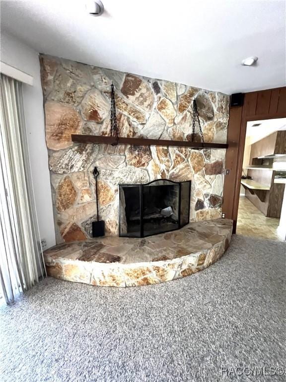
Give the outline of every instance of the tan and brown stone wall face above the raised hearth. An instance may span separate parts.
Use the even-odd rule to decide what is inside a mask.
[[[225,143],[228,95],[45,55],[40,62],[57,244],[92,238],[94,166],[106,235],[119,234],[119,184],[192,181],[188,220],[221,216],[225,149],[77,144],[71,134],[110,135],[113,82],[121,137],[190,140],[196,97],[205,142]]]

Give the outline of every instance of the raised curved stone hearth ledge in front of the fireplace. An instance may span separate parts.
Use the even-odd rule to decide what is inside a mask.
[[[95,286],[141,286],[180,279],[215,263],[227,249],[232,220],[193,222],[146,238],[105,236],[44,252],[48,275]]]

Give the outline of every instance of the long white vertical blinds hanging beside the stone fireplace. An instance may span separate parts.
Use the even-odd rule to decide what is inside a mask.
[[[1,74],[0,288],[7,303],[46,276],[25,131],[22,84]]]

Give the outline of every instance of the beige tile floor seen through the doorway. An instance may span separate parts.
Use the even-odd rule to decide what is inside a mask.
[[[266,217],[247,197],[240,196],[236,227],[238,235],[283,241],[277,235],[278,226],[278,218]]]

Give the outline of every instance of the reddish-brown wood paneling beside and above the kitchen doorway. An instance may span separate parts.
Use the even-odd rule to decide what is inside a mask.
[[[234,220],[236,229],[240,179],[248,121],[286,117],[286,87],[246,93],[243,106],[231,107],[227,133],[222,213]]]

